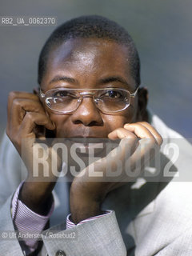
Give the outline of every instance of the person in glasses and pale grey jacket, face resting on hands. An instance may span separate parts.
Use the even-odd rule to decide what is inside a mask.
[[[85,175],[73,179],[70,187],[59,183],[51,172],[46,180],[33,174],[31,155],[35,138],[109,138],[121,139],[114,159],[114,155],[108,154],[102,162],[94,162],[94,167],[105,173],[108,160],[114,161],[113,167],[119,159],[124,165],[128,158],[131,172],[140,159],[140,177],[146,166],[145,156],[162,144],[160,134],[167,138],[178,134],[146,110],[147,91],[138,87],[139,72],[138,52],[130,35],[106,18],[76,18],[51,34],[39,57],[39,90],[34,94],[12,92],[9,96],[6,134],[25,162],[28,174],[24,181],[17,178],[14,186],[21,183],[13,194],[10,195],[11,189],[2,194],[5,203],[1,208],[1,230],[40,234],[49,226],[54,201],[56,205],[58,200],[60,211],[54,219],[64,223],[53,221],[58,226],[50,230],[67,234],[70,229],[77,232],[78,238],[43,239],[43,244],[35,238],[2,239],[3,255],[190,255],[190,239],[183,237],[191,234],[189,226],[186,229],[182,221],[175,220],[183,204],[176,212],[170,212],[175,210],[176,204],[170,205],[169,200],[170,196],[178,195],[177,185],[154,182],[138,186],[125,175],[126,170],[110,182],[104,177],[93,179],[89,166]],[[29,141],[22,145],[23,138]],[[150,143],[146,143],[147,139]],[[187,164],[189,160],[185,159]],[[165,166],[166,157],[162,156],[161,161]],[[51,165],[50,158],[48,164]],[[14,176],[21,177],[15,175],[13,166],[9,169]],[[2,178],[4,186],[10,182],[8,176],[4,174]],[[122,186],[122,181],[126,185]],[[186,194],[186,190],[182,193]],[[191,209],[188,201],[187,205]],[[182,216],[187,218],[186,212],[183,210]],[[174,230],[177,225],[178,234]],[[168,226],[172,230],[166,230]],[[165,238],[168,231],[170,235]]]

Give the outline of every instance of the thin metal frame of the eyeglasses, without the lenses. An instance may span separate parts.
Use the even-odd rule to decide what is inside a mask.
[[[126,90],[126,92],[128,92],[129,94],[130,94],[130,98],[134,98],[135,97],[135,95],[137,94],[137,92],[138,92],[138,88],[139,88],[139,86],[137,87],[137,89],[134,91],[134,93],[133,94],[130,94],[130,91],[129,90],[126,90],[126,89],[122,89],[122,88],[115,88],[115,87],[110,87],[110,88],[92,88],[92,89],[70,89],[70,88],[64,88],[64,87],[59,87],[59,88],[54,88],[54,89],[51,89],[51,90],[56,90],[56,89],[58,89],[58,90],[119,90],[119,89],[121,89],[121,90]],[[39,96],[40,96],[40,98],[41,99],[44,99],[45,100],[45,102],[46,102],[46,94],[48,93],[48,92],[50,92],[51,90],[47,90],[46,91],[46,93],[44,94],[43,92],[42,92],[42,90],[41,89],[39,89]],[[48,106],[49,107],[49,109],[50,110],[52,110],[52,111],[54,111],[54,112],[56,112],[56,113],[59,113],[59,114],[69,114],[69,113],[73,113],[75,110],[77,110],[78,109],[78,106],[80,106],[81,105],[81,103],[82,103],[82,99],[83,98],[87,98],[87,97],[91,97],[91,98],[93,98],[94,99],[94,103],[95,103],[95,106],[97,106],[97,108],[98,108],[98,110],[100,110],[102,113],[104,113],[104,114],[111,114],[111,113],[117,113],[117,112],[121,112],[121,111],[123,111],[123,110],[126,110],[126,108],[128,108],[128,106],[130,106],[130,102],[129,102],[129,104],[127,105],[127,106],[125,106],[122,110],[115,110],[115,111],[103,111],[103,110],[101,110],[99,107],[98,107],[98,105],[97,105],[97,98],[94,98],[94,94],[95,94],[95,92],[88,92],[88,91],[82,91],[82,92],[80,92],[79,93],[80,94],[80,97],[78,98],[78,104],[77,104],[77,107],[74,109],[74,110],[70,110],[70,111],[65,111],[65,110],[62,110],[62,111],[58,111],[58,110],[53,110],[48,104],[47,104],[47,102],[46,102],[46,106]]]

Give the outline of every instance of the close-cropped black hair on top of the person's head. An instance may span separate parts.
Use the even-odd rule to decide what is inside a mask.
[[[130,34],[116,22],[98,15],[73,18],[58,26],[47,39],[38,59],[38,84],[46,71],[50,51],[71,38],[102,38],[127,46],[130,58],[130,72],[137,86],[140,84],[140,60],[138,50]]]

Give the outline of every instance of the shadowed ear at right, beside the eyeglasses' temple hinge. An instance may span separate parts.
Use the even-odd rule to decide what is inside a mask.
[[[137,113],[137,121],[145,121],[148,122],[148,114],[146,110],[148,102],[148,90],[146,87],[138,88],[138,113]]]

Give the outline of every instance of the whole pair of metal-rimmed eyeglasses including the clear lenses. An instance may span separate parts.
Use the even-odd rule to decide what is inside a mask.
[[[44,99],[46,106],[60,114],[72,113],[78,109],[83,98],[93,98],[95,106],[102,113],[110,114],[126,110],[130,106],[130,98],[134,98],[138,88],[133,94],[121,88],[103,89],[68,89],[56,88],[46,91],[40,90],[40,98]]]

